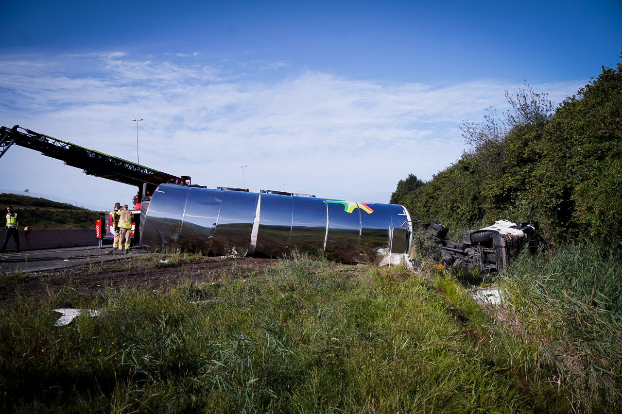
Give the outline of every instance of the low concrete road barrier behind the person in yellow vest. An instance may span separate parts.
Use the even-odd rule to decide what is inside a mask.
[[[2,237],[6,235],[3,231]],[[4,240],[4,239],[3,239]],[[94,229],[86,230],[32,230],[26,234],[25,231],[19,231],[19,249],[55,249],[57,247],[78,247],[78,246],[96,246],[98,244],[95,238]],[[7,251],[15,250],[15,241],[13,237],[9,239],[6,246]]]

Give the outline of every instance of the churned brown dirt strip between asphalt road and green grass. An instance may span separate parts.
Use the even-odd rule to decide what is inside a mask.
[[[278,259],[211,257],[198,263],[170,267],[164,264],[165,267],[160,267],[163,265],[149,264],[144,260],[126,270],[126,264],[121,260],[108,264],[101,270],[81,265],[63,270],[9,274],[0,279],[0,303],[11,303],[16,300],[17,295],[42,297],[47,292],[57,292],[65,286],[75,289],[77,293],[89,294],[101,292],[106,287],[160,288],[175,285],[180,280],[208,282],[221,278],[225,272],[227,277],[235,277],[227,272],[234,265],[262,270],[276,262]]]

